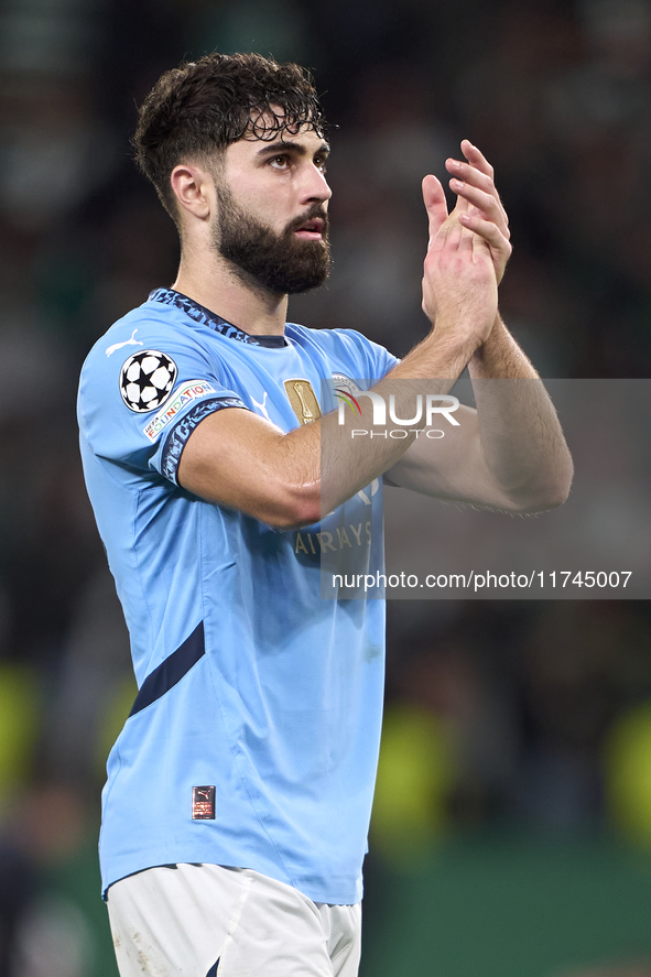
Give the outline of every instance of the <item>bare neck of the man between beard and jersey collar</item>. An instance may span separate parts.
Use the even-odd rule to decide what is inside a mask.
[[[284,334],[287,296],[246,281],[219,256],[185,247],[172,287],[251,336]]]

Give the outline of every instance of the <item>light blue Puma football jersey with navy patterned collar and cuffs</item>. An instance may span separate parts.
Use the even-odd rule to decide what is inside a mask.
[[[361,898],[384,608],[322,599],[319,563],[349,549],[381,569],[381,491],[332,525],[280,532],[185,491],[176,473],[209,413],[242,408],[290,431],[318,415],[322,380],[380,379],[395,362],[350,330],[249,336],[164,289],[90,351],[84,470],[139,686],[108,760],[105,890],[152,866],[213,862],[317,902]]]

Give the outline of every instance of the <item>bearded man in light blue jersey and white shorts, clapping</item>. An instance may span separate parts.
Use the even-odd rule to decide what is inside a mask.
[[[563,501],[572,464],[497,315],[507,219],[469,142],[447,163],[449,218],[424,181],[434,328],[400,363],[357,333],[286,324],[287,294],[322,284],[329,263],[325,120],[301,68],[215,54],[172,70],[141,108],[135,146],[178,228],[178,276],[96,344],[79,391],[139,683],[100,840],[120,971],[352,977],[383,606],[321,599],[321,550],[335,547],[322,513],[339,520],[346,554],[381,567],[381,492],[361,490],[382,473],[533,511]],[[527,392],[514,411],[511,394],[477,384],[481,423],[462,409],[463,433],[436,452],[416,430],[351,439],[322,413],[322,381],[366,378],[410,416],[398,381],[445,393],[467,365]],[[371,427],[370,400],[357,400],[356,424]]]

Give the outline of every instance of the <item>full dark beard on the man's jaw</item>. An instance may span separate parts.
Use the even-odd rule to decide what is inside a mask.
[[[246,284],[276,295],[296,295],[323,285],[330,270],[328,218],[323,204],[314,204],[276,234],[243,210],[224,186],[217,187],[218,222],[213,245]],[[305,241],[295,231],[319,217],[321,241]]]

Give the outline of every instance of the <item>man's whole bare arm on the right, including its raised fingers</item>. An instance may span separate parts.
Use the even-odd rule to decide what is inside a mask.
[[[498,280],[510,248],[507,218],[492,169],[466,143],[467,163],[448,161],[463,177],[459,220],[487,237]],[[477,412],[458,414],[460,426],[441,441],[419,438],[387,474],[388,481],[424,495],[518,512],[561,504],[573,465],[554,406],[529,359],[499,318],[468,363]]]

